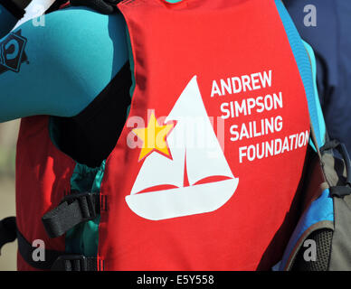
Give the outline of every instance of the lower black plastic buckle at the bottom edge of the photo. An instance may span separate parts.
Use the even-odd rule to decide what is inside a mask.
[[[87,257],[84,255],[62,255],[52,265],[52,271],[88,271]]]

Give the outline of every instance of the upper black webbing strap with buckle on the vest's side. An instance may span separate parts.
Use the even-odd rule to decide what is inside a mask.
[[[99,213],[100,194],[72,193],[43,216],[43,226],[50,238],[56,238],[82,222],[95,219]]]

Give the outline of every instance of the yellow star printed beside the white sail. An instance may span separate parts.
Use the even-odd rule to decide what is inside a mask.
[[[148,154],[151,154],[153,151],[171,158],[171,154],[166,143],[166,136],[173,129],[173,127],[174,124],[160,126],[157,123],[157,118],[155,117],[154,113],[152,113],[150,119],[148,120],[147,127],[133,129],[132,132],[135,135],[138,135],[138,138],[143,141],[139,161],[141,161]]]

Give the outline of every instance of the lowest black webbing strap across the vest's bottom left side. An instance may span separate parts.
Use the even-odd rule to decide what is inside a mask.
[[[33,247],[21,232],[17,231],[18,251],[24,261],[30,266],[40,270],[52,271],[98,271],[96,257],[87,257],[78,254],[67,254],[55,250],[45,250],[43,260],[35,261],[33,258]]]

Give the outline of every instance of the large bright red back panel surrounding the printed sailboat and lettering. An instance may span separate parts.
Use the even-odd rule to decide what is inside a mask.
[[[107,200],[107,210],[101,211],[99,242],[105,269],[254,270],[263,259],[260,268],[269,269],[280,260],[289,237],[291,224],[285,218],[301,178],[308,137],[302,147],[251,161],[242,157],[241,162],[240,148],[309,133],[305,91],[274,1],[185,0],[171,5],[134,0],[119,8],[128,23],[137,85],[101,188]],[[265,89],[246,87],[241,93],[211,96],[213,79],[220,83],[220,79],[269,70],[271,85]],[[281,92],[283,105],[224,120],[223,154],[239,184],[221,208],[171,219],[141,218],[125,198],[147,158],[158,153],[139,160],[140,148],[127,143],[135,128],[130,124],[139,117],[145,124],[138,128],[147,126],[147,109],[156,117],[167,117],[195,75],[207,115],[214,117],[214,132],[217,117],[223,116],[223,102]],[[251,89],[256,84],[251,82]],[[281,117],[280,131],[231,140],[232,126],[261,124],[270,117]],[[154,177],[162,170],[156,169]],[[274,239],[278,240],[274,250],[268,250]]]

